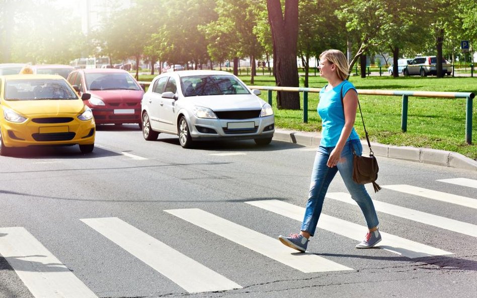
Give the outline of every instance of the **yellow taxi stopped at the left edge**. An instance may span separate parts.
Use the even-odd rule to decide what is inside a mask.
[[[0,76],[0,155],[15,147],[80,145],[95,147],[93,112],[60,75]]]

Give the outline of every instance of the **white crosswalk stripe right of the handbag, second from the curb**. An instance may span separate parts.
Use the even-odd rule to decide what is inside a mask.
[[[471,197],[426,189],[426,188],[412,186],[408,184],[384,185],[381,187],[431,198],[432,200],[437,200],[441,202],[446,202],[446,203],[456,204],[456,205],[460,205],[460,206],[464,206],[468,208],[477,209],[477,200]]]

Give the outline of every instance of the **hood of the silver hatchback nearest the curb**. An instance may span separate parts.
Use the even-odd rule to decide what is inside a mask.
[[[184,97],[188,105],[212,111],[261,110],[265,102],[255,94],[230,94]]]

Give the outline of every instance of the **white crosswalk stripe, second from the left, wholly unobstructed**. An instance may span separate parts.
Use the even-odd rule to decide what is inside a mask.
[[[190,293],[242,287],[119,218],[81,221]]]

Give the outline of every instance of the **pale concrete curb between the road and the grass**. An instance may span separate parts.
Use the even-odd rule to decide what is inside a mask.
[[[311,133],[276,129],[273,139],[276,141],[317,147],[320,145],[321,135],[316,132]],[[361,144],[363,145],[363,153],[369,154],[368,143],[366,140],[361,140]],[[373,142],[371,143],[371,148],[376,156],[385,156],[389,158],[477,171],[477,161],[457,152],[408,146],[383,145]]]

